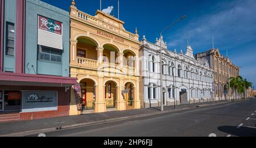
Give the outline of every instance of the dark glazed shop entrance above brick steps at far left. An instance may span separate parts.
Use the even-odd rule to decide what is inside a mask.
[[[5,112],[20,112],[20,91],[5,91],[4,92],[4,109]]]

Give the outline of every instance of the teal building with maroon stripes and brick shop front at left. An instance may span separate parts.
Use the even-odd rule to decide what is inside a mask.
[[[0,121],[69,115],[69,13],[1,0]]]

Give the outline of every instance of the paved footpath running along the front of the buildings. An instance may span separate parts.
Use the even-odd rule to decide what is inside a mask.
[[[244,100],[236,102],[246,102]],[[127,111],[112,111],[104,113],[91,113],[79,116],[55,117],[50,119],[16,121],[0,123],[1,136],[31,136],[39,133],[50,133],[63,131],[64,129],[79,128],[85,126],[101,125],[106,123],[118,123],[126,120],[151,118],[153,116],[170,115],[170,112],[179,112],[188,109],[198,109],[215,105],[232,104],[234,102],[205,102],[196,104],[184,104],[164,107],[164,112],[159,107],[148,109],[133,109]],[[256,113],[256,112],[255,112]],[[54,134],[53,134],[54,136]]]

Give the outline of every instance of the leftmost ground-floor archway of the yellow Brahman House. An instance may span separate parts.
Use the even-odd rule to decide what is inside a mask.
[[[96,99],[95,83],[92,79],[82,79],[80,81],[82,96],[82,111],[94,109]]]

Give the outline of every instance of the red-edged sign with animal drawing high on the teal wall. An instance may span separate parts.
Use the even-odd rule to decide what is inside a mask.
[[[57,33],[62,35],[62,23],[57,22],[56,20],[46,18],[44,16],[38,16],[38,27],[39,29],[43,29],[45,31]]]

